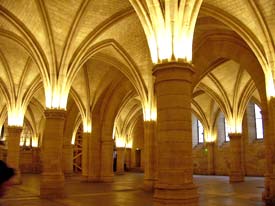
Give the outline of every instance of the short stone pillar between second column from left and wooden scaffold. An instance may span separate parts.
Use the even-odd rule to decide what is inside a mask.
[[[63,145],[62,164],[63,172],[65,176],[71,176],[73,174],[73,145]]]

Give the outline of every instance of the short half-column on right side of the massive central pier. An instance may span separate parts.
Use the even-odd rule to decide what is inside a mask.
[[[113,149],[114,142],[112,139],[101,141],[100,181],[102,182],[113,181]]]

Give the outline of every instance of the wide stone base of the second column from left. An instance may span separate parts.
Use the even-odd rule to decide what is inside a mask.
[[[62,198],[64,196],[65,195],[63,174],[42,174],[40,197]]]

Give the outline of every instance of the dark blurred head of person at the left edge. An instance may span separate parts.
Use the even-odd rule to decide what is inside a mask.
[[[10,178],[14,175],[14,169],[6,165],[0,160],[0,197],[3,197],[7,187],[10,185]]]

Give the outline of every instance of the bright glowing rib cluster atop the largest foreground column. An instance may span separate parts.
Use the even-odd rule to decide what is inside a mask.
[[[153,63],[192,61],[193,34],[202,0],[130,0],[145,31]],[[165,10],[163,11],[163,8]]]

